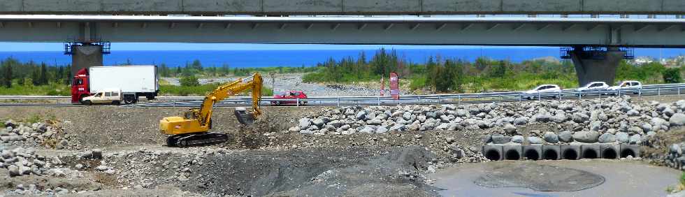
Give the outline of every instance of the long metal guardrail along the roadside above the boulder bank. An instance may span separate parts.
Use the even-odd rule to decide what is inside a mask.
[[[525,92],[483,92],[473,94],[428,94],[428,95],[404,95],[396,100],[392,96],[313,96],[308,99],[271,99],[263,98],[262,103],[282,102],[291,103],[294,105],[301,105],[304,103],[328,103],[331,105],[341,104],[401,104],[401,103],[425,103],[425,104],[439,104],[439,103],[461,103],[461,101],[473,100],[491,100],[496,101],[524,101],[524,100],[542,100],[542,99],[583,99],[583,98],[603,98],[606,96],[616,96],[625,94],[642,95],[665,95],[665,94],[682,94],[685,89],[685,83],[678,84],[664,84],[664,85],[642,85],[640,89],[629,90],[595,90],[578,92],[577,89],[563,89],[561,92],[554,93],[535,93],[526,94]],[[142,97],[141,97],[142,98]],[[70,96],[0,96],[0,100],[69,100]],[[204,96],[157,96],[159,101],[167,101],[159,104],[169,104],[175,106],[177,103],[200,103]],[[234,96],[220,101],[220,103],[251,103],[250,96]],[[154,103],[140,103],[139,105],[154,104]]]

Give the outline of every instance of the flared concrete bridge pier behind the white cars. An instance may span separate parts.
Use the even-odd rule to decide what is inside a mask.
[[[578,75],[578,85],[583,86],[589,82],[606,82],[614,84],[616,68],[626,52],[619,48],[607,48],[603,50],[584,50],[583,47],[574,47],[570,51],[570,57]]]

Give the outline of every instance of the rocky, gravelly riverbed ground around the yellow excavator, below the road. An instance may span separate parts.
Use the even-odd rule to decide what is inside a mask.
[[[8,195],[434,196],[428,175],[488,161],[486,144],[626,143],[642,146],[637,161],[685,161],[685,101],[273,107],[252,126],[216,108],[213,131],[229,141],[185,149],[157,131],[182,108],[3,109]]]

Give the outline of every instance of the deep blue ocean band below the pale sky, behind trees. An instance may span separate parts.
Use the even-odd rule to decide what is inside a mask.
[[[105,65],[120,65],[130,61],[136,65],[166,64],[167,66],[184,66],[195,59],[203,66],[229,65],[231,68],[267,67],[267,66],[315,66],[329,58],[336,60],[346,57],[356,59],[361,52],[366,52],[368,59],[376,50],[145,50],[116,51],[105,54]],[[466,48],[466,49],[399,49],[400,57],[416,63],[424,63],[428,57],[440,56],[443,59],[467,59],[474,61],[477,57],[503,59],[520,62],[540,57],[559,57],[559,48]],[[635,49],[636,57],[669,58],[685,54],[685,49]],[[0,52],[0,59],[13,57],[20,61],[45,62],[50,65],[71,64],[71,57],[62,52]]]

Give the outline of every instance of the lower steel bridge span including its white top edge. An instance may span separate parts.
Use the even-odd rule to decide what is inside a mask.
[[[2,42],[685,47],[685,19],[0,15]]]

